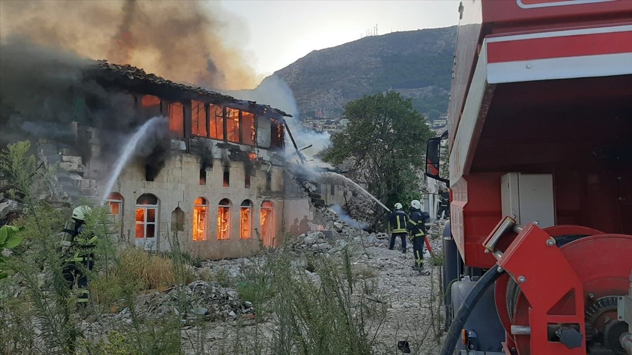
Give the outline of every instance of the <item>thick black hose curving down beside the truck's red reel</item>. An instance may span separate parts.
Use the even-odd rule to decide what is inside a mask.
[[[471,311],[474,309],[478,300],[483,296],[485,290],[492,286],[499,277],[501,277],[504,270],[499,270],[498,267],[492,267],[485,275],[478,280],[473,289],[471,289],[468,296],[465,298],[465,301],[459,307],[456,316],[454,316],[454,320],[452,321],[452,325],[450,325],[449,330],[447,331],[446,340],[443,342],[443,346],[441,347],[441,351],[439,354],[441,355],[452,355],[454,352],[454,348],[456,347],[456,342],[461,338],[461,330],[463,330],[463,325],[470,317]]]

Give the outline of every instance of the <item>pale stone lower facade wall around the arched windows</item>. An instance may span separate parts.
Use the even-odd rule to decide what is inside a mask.
[[[145,181],[145,171],[138,164],[130,164],[119,176],[113,192],[123,196],[123,239],[135,242],[135,210],[137,198],[145,193],[159,200],[157,240],[154,248],[169,250],[173,234],[178,236],[181,247],[201,258],[238,258],[252,255],[262,248],[259,236],[260,207],[264,200],[274,203],[274,244],[283,238],[283,168],[272,166],[272,184],[266,190],[267,166],[255,169],[250,188],[245,187],[245,165],[231,162],[222,166],[221,160],[207,169],[206,184],[200,184],[200,157],[179,153],[167,160],[167,164],[154,178]],[[230,174],[228,187],[224,187],[224,171]],[[198,197],[207,201],[206,240],[193,241],[193,203]],[[231,226],[229,239],[217,239],[217,206],[228,198],[231,202]],[[245,200],[252,202],[252,236],[240,239],[240,206]],[[180,208],[185,214],[184,231],[173,232],[172,212]],[[170,238],[172,237],[172,238]]]

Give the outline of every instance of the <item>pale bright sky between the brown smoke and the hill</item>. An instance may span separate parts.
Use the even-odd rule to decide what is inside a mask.
[[[458,0],[223,0],[232,38],[259,75],[287,66],[315,49],[379,34],[448,27],[458,23]],[[241,33],[235,33],[241,32]]]

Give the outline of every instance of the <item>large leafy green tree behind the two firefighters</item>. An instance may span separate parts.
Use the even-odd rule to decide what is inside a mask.
[[[325,160],[353,162],[353,178],[392,206],[420,198],[418,171],[432,132],[410,99],[398,92],[365,95],[344,107],[349,124],[332,137]]]

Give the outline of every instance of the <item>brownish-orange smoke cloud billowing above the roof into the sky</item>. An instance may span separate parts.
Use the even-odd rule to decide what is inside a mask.
[[[236,24],[236,25],[235,25]],[[133,64],[174,81],[253,88],[254,71],[226,40],[239,27],[198,1],[1,1],[0,40],[20,36],[82,57]]]

